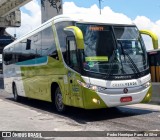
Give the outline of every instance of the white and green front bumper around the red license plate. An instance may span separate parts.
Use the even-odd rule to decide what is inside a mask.
[[[85,109],[97,109],[124,106],[136,103],[147,103],[151,100],[152,86],[147,88],[136,87],[129,88],[127,94],[123,93],[123,89],[107,89],[103,92],[94,92],[89,89],[84,89]],[[132,101],[121,102],[123,97],[132,97]]]

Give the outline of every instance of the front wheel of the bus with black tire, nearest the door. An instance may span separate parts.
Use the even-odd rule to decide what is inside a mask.
[[[59,113],[63,113],[66,110],[66,106],[63,104],[62,99],[62,93],[59,87],[56,88],[55,94],[54,94],[54,105],[55,109]]]

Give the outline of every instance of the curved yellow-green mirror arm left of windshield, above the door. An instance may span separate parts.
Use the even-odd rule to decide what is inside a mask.
[[[68,26],[68,27],[64,28],[64,31],[68,35],[72,34],[75,36],[75,40],[76,40],[76,44],[77,44],[78,49],[80,49],[80,50],[84,49],[84,39],[83,39],[83,33],[82,33],[81,29],[79,29],[76,26]]]

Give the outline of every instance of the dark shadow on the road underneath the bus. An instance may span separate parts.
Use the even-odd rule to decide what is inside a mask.
[[[57,114],[59,117],[68,117],[80,124],[86,124],[87,122],[93,121],[104,121],[115,118],[131,117],[136,115],[149,114],[155,111],[117,107],[108,109],[98,109],[98,110],[85,110],[80,108],[68,107],[66,113],[59,114],[53,110],[52,104],[44,101],[21,98],[20,102],[15,102],[13,98],[6,98],[9,102],[25,106],[32,110],[37,110],[38,112],[46,112],[50,115]]]

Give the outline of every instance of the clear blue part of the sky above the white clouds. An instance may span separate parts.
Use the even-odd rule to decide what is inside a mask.
[[[78,7],[90,8],[91,5],[99,5],[99,0],[63,0],[63,2],[74,2]],[[160,0],[102,0],[102,8],[109,6],[116,13],[123,13],[135,19],[146,16],[152,21],[160,19]]]

